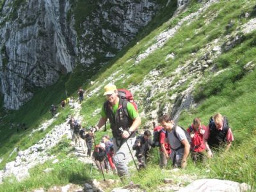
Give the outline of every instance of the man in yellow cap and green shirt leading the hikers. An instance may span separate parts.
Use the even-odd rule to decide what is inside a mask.
[[[113,134],[114,163],[118,175],[122,178],[129,176],[127,164],[132,157],[130,149],[136,140],[136,130],[141,124],[141,118],[132,101],[118,96],[114,84],[104,87],[104,95],[107,101],[102,106],[101,118],[92,131],[99,130],[109,119]]]

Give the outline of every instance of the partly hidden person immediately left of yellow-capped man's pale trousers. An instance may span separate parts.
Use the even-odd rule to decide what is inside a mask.
[[[113,155],[114,155],[114,148],[113,148],[113,141],[110,140],[108,135],[102,136],[102,143],[105,144],[106,148],[106,156],[108,157],[108,162],[106,162],[106,168],[109,169],[109,166],[111,167],[111,170],[113,170],[114,173],[116,173],[116,167],[113,163]]]

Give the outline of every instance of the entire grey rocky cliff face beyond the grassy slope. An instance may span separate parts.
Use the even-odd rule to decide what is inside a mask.
[[[76,63],[93,67],[115,56],[161,8],[156,0],[6,0],[0,15],[0,90],[4,107],[18,109],[33,88],[56,83]],[[168,3],[166,1],[166,3]],[[75,30],[76,28],[76,30]]]

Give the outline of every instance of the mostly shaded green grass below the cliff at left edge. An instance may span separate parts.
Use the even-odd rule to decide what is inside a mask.
[[[8,115],[3,118],[3,122],[0,125],[0,155],[4,157],[4,160],[0,163],[0,168],[3,168],[5,163],[15,159],[14,156],[12,158],[9,157],[13,148],[19,147],[21,150],[24,150],[25,148],[30,147],[40,139],[44,138],[45,134],[51,131],[51,128],[54,127],[54,125],[61,124],[65,118],[67,118],[70,114],[70,110],[68,108],[58,108],[58,112],[61,111],[62,113],[53,122],[51,127],[44,132],[36,132],[33,134],[32,138],[29,138],[29,133],[32,129],[37,128],[42,122],[51,118],[51,104],[59,106],[61,99],[65,99],[66,81],[67,77],[63,77],[58,83],[49,86],[48,88],[33,90],[35,93],[33,99],[24,104],[18,111],[4,111],[3,108],[1,109],[1,114],[4,115],[7,113]],[[17,129],[20,129],[20,127],[18,127],[18,124],[20,123],[26,123],[28,129],[17,132]],[[11,124],[14,124],[12,129],[10,129]]]

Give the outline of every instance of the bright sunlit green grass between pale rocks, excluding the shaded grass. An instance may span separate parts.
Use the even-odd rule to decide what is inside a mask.
[[[148,58],[140,62],[140,65],[136,67],[132,66],[131,63],[136,57],[136,55],[143,52],[148,47],[148,41],[152,40],[154,36],[156,36],[163,29],[173,26],[177,23],[177,21],[188,15],[189,12],[194,12],[200,4],[193,1],[191,3],[190,8],[187,12],[183,13],[179,16],[178,19],[172,20],[172,22],[166,22],[159,28],[155,29],[148,36],[143,38],[140,43],[131,49],[122,53],[122,56],[118,56],[115,62],[110,63],[108,67],[101,70],[97,76],[94,77],[93,80],[102,82],[106,77],[117,70],[123,70],[131,76],[125,81],[118,81],[116,84],[118,86],[128,86],[129,84],[138,84],[143,79],[143,76],[148,74],[150,70],[153,68],[161,67],[166,71],[165,76],[168,76],[170,72],[172,72],[177,65],[180,63],[185,63],[186,60],[189,59],[191,52],[196,52],[199,49],[202,49],[207,42],[211,42],[214,38],[219,36],[227,35],[228,33],[232,33],[236,29],[238,24],[243,24],[247,22],[249,19],[245,19],[244,17],[239,17],[239,15],[243,15],[245,12],[253,12],[253,1],[220,1],[220,3],[214,4],[207,10],[205,15],[207,17],[199,17],[198,20],[195,20],[188,26],[183,26],[179,33],[177,33],[163,48],[157,50]],[[228,10],[234,10],[233,12],[229,12]],[[202,25],[204,20],[208,17],[211,17],[211,13],[219,12],[218,17],[212,20],[211,24],[208,26]],[[235,25],[231,29],[226,29],[228,22],[230,20],[235,20]],[[195,33],[191,33],[191,31],[195,32],[196,29],[200,29],[200,33],[194,35]],[[205,38],[205,34],[207,37]],[[184,111],[180,116],[179,124],[186,127],[191,123],[192,119],[195,116],[200,116],[202,118],[204,124],[207,124],[209,120],[209,116],[217,111],[225,114],[228,117],[230,125],[232,126],[232,130],[234,131],[234,136],[236,141],[230,152],[228,154],[220,154],[216,156],[216,158],[209,161],[209,168],[211,172],[207,173],[205,166],[195,167],[192,163],[188,164],[188,168],[186,170],[182,170],[182,173],[195,173],[197,175],[201,175],[201,177],[214,177],[220,179],[231,179],[238,182],[248,182],[252,186],[255,185],[255,164],[256,164],[256,154],[255,154],[255,71],[246,73],[243,70],[243,66],[248,63],[248,61],[253,60],[253,55],[255,55],[255,33],[252,35],[246,36],[241,45],[231,49],[225,54],[221,54],[220,58],[218,58],[214,63],[217,64],[218,70],[223,68],[227,68],[221,74],[221,76],[211,76],[211,74],[206,73],[204,81],[200,82],[198,86],[195,88],[195,98],[200,102],[200,105],[197,108],[190,109],[189,111]],[[185,41],[185,38],[190,38],[191,40]],[[175,52],[175,60],[172,61],[164,61],[166,55],[170,52]],[[239,60],[238,62],[236,62]],[[125,63],[125,64],[124,64]],[[88,85],[84,85],[84,87],[91,90],[95,87]],[[217,91],[216,91],[217,90]],[[102,91],[101,91],[102,92]],[[101,95],[100,92],[100,95]],[[83,111],[82,115],[86,121],[86,124],[95,124],[99,116],[92,117],[92,112],[95,109],[100,108],[102,105],[102,101],[104,98],[102,96],[92,97],[90,99],[86,99],[83,103]],[[104,134],[101,132],[100,134]],[[99,135],[98,135],[99,139]],[[66,141],[67,142],[67,141]],[[10,191],[15,191],[15,189],[32,189],[39,188],[40,186],[44,186],[45,188],[52,186],[52,184],[66,184],[67,182],[72,182],[74,180],[70,179],[70,173],[77,175],[82,175],[79,177],[81,180],[86,180],[84,172],[88,172],[88,169],[77,170],[72,166],[70,159],[65,157],[65,152],[61,149],[59,150],[59,156],[63,157],[62,164],[65,164],[65,170],[67,170],[67,177],[60,179],[53,179],[58,175],[58,171],[54,173],[50,173],[47,177],[52,182],[47,182],[42,180],[42,176],[40,176],[40,170],[43,168],[47,168],[52,166],[48,163],[45,163],[37,168],[31,170],[31,172],[35,172],[36,179],[28,179],[21,184],[10,185],[9,182],[6,182],[4,186],[0,186],[1,189],[9,189]],[[157,157],[155,156],[152,159],[152,162],[156,162]],[[61,166],[61,165],[56,165]],[[40,168],[41,167],[41,168]],[[55,168],[55,167],[54,167]],[[56,168],[58,170],[58,168]],[[69,170],[69,171],[68,171]],[[60,172],[63,172],[63,168],[60,169]],[[148,177],[141,177],[145,173],[136,173],[132,180],[136,183],[142,184],[145,189],[156,189],[156,186],[162,183],[162,179],[166,177],[165,172],[160,172],[156,166],[150,166],[147,170]],[[155,173],[159,174],[155,174]],[[62,174],[61,174],[62,175]],[[76,175],[76,174],[75,174]],[[157,177],[156,177],[157,176]],[[170,176],[170,175],[169,175]],[[168,177],[169,177],[168,176]],[[45,177],[45,176],[44,176]],[[76,176],[78,178],[78,176]],[[100,175],[93,172],[92,177],[100,178]],[[107,175],[107,178],[112,177],[111,175]],[[143,178],[143,179],[141,179]],[[77,180],[80,180],[77,179]],[[38,181],[42,180],[40,184]],[[4,187],[4,188],[3,188]]]

